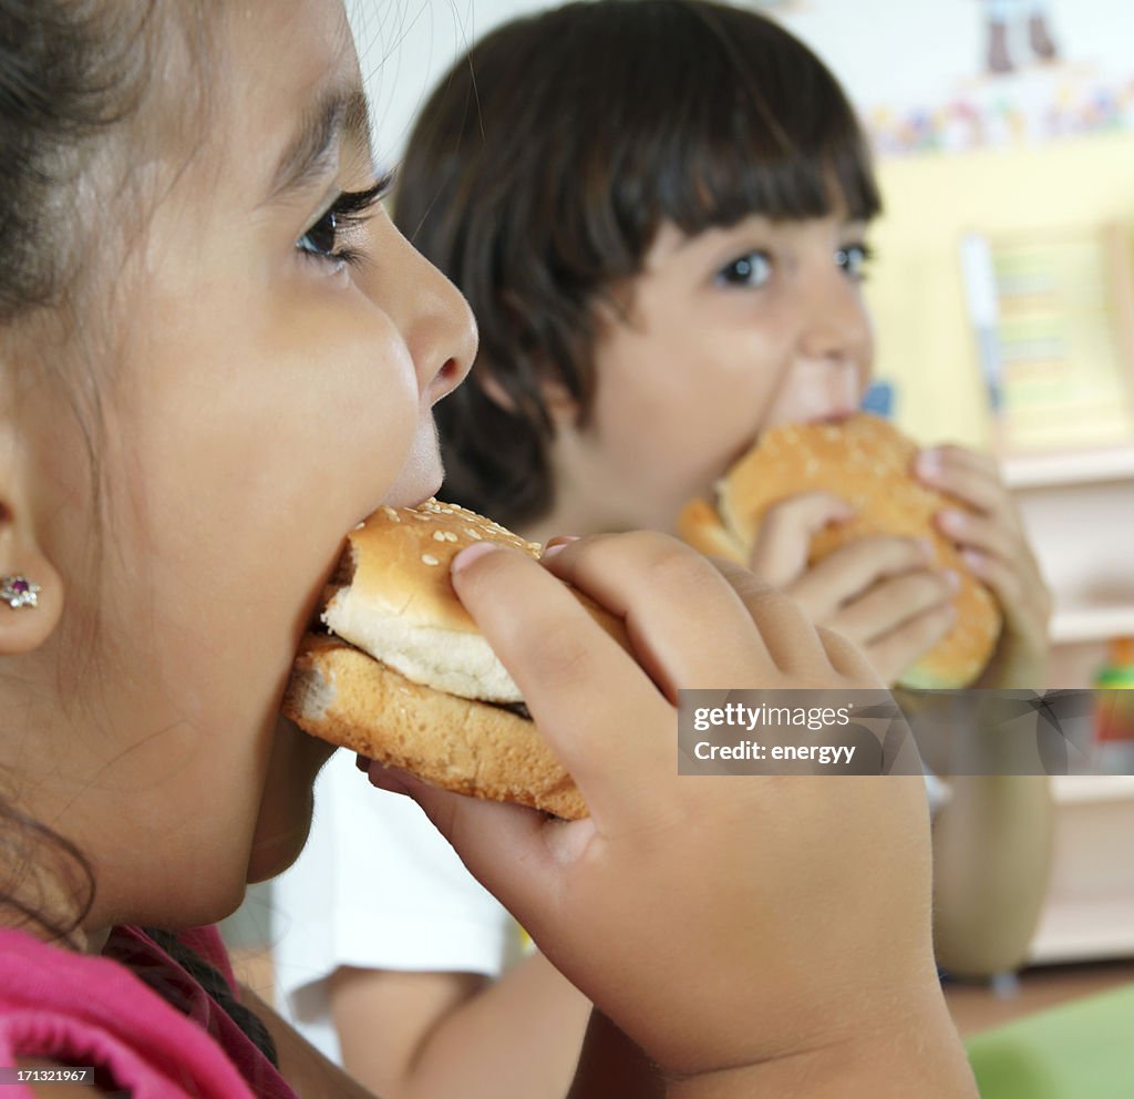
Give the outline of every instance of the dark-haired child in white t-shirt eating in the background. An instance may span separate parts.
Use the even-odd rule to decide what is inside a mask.
[[[599,0],[492,32],[423,109],[395,206],[480,326],[469,382],[438,413],[445,493],[539,540],[672,530],[763,429],[857,407],[872,358],[864,236],[879,209],[838,83],[755,12]],[[1005,610],[982,685],[1042,686],[1047,592],[995,466],[945,447],[922,455],[921,473],[979,512],[940,518]],[[812,532],[846,514],[835,496],[787,501],[755,570],[892,680],[950,627],[950,577],[915,540],[881,536],[809,568]],[[503,914],[493,923],[483,897],[464,899],[474,887],[459,868],[425,878],[362,840],[331,861],[362,819],[415,834],[355,778],[342,763],[328,770],[315,844],[278,893],[280,980],[298,1021],[324,1033],[335,1022],[339,1045],[327,1048],[391,1094],[413,1093],[439,1045],[459,1049],[474,1079],[518,1071],[523,1028],[532,1065],[516,1093],[561,1094],[577,997],[540,957],[481,992],[476,974],[501,965]],[[949,793],[934,820],[940,961],[972,974],[1014,967],[1047,884],[1047,784],[962,779]],[[443,918],[448,938],[361,945],[347,920],[307,919],[315,882],[341,911],[391,925]],[[400,1008],[408,989],[412,1015]],[[374,1021],[391,1018],[397,1041],[370,1040]]]

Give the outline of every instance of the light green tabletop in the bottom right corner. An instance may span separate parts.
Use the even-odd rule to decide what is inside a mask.
[[[981,1099],[1134,1099],[1134,984],[974,1034]]]

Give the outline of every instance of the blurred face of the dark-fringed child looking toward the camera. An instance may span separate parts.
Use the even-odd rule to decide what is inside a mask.
[[[872,358],[864,229],[839,215],[692,237],[662,226],[626,314],[604,311],[589,423],[561,417],[574,533],[671,530],[765,428],[857,407]]]

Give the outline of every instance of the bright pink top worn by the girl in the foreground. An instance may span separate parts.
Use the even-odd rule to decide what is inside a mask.
[[[235,986],[215,928],[179,938]],[[150,966],[162,967],[187,1014],[130,969]],[[116,928],[94,957],[0,929],[0,1066],[22,1058],[101,1066],[104,1087],[133,1099],[295,1099],[217,1001],[136,928]],[[3,1099],[32,1094],[23,1084],[3,1088]]]

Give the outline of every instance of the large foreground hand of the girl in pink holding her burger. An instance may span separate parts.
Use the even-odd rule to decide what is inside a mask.
[[[550,573],[624,616],[637,659]],[[874,1049],[878,1079],[904,1082],[862,1094],[904,1094],[942,1064],[965,1079],[930,941],[921,777],[677,773],[678,687],[877,687],[853,645],[660,534],[576,541],[543,563],[477,546],[455,583],[592,815],[549,820],[376,766],[371,778],[422,804],[601,1011],[682,1077],[770,1062],[806,1074],[814,1058],[845,1072]],[[913,1077],[903,1048],[917,1050]]]

